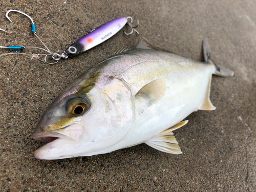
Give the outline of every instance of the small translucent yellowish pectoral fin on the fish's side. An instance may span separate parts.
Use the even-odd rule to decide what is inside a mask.
[[[154,104],[163,97],[165,90],[166,81],[164,79],[156,79],[141,88],[135,96],[144,98],[148,104]]]

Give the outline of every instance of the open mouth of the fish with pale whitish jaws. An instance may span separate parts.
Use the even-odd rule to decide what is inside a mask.
[[[51,132],[34,132],[32,138],[37,141],[47,142],[34,152],[36,159],[59,159],[65,154],[59,154],[65,151],[63,146],[75,146],[83,137],[83,126],[80,124],[72,124],[56,131]]]

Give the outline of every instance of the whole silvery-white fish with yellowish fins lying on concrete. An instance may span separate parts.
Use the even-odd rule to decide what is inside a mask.
[[[146,143],[181,154],[173,131],[197,110],[215,110],[210,102],[212,74],[233,76],[210,58],[193,61],[150,45],[116,55],[78,77],[52,102],[32,135],[48,142],[37,159],[63,159],[110,153]]]

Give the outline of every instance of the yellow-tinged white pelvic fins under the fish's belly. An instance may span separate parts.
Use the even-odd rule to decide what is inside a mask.
[[[187,124],[188,120],[181,121],[169,129],[160,132],[154,138],[147,140],[145,143],[156,150],[170,154],[182,154],[180,146],[174,136],[173,131]]]

